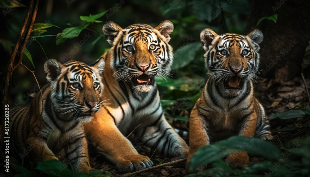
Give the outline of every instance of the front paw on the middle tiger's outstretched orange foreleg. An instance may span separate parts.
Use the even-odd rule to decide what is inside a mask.
[[[153,166],[153,161],[147,156],[132,154],[118,159],[117,169],[121,172],[138,171]]]

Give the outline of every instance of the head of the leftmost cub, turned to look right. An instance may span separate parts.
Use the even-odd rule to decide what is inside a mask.
[[[100,58],[94,66],[78,61],[61,64],[49,59],[44,64],[47,81],[51,86],[52,104],[62,119],[89,122],[91,113],[100,108],[100,95],[103,89],[101,73],[104,59]]]

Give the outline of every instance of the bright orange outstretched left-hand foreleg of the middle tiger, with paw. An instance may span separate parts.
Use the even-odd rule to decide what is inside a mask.
[[[131,142],[117,129],[104,109],[93,114],[91,122],[84,125],[85,133],[100,153],[110,159],[120,171],[142,170],[153,166],[147,156],[138,154]]]

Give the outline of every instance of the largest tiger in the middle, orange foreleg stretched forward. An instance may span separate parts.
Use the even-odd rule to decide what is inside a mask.
[[[153,165],[147,156],[138,154],[131,141],[149,147],[151,153],[156,149],[165,156],[187,157],[188,145],[166,121],[155,83],[155,76],[166,75],[172,64],[168,42],[173,28],[170,20],[155,28],[133,24],[122,29],[112,21],[103,26],[112,48],[103,55],[101,99],[110,104],[92,114],[94,119],[85,125],[85,132],[119,170]]]

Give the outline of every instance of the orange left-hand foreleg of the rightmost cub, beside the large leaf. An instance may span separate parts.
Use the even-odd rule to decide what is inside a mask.
[[[207,122],[197,110],[195,105],[189,118],[189,154],[186,161],[186,170],[188,172],[199,172],[206,169],[205,166],[201,166],[195,170],[189,170],[189,161],[196,153],[196,151],[202,146],[210,144],[209,137],[207,135]]]

